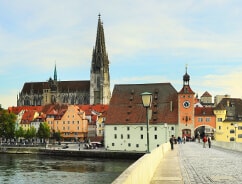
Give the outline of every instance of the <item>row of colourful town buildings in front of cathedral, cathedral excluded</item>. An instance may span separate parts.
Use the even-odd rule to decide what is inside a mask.
[[[149,147],[167,142],[171,135],[187,139],[211,136],[216,141],[242,142],[242,100],[228,95],[212,96],[205,92],[200,99],[183,76],[177,92],[170,83],[115,85],[110,104],[9,107],[17,115],[17,128],[38,129],[47,122],[51,132],[60,132],[63,140],[104,141],[107,150],[146,151],[146,109],[140,94],[152,93],[149,119]]]

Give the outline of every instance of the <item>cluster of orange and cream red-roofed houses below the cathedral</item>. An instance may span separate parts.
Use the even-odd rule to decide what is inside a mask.
[[[60,132],[64,141],[101,141],[104,135],[104,119],[108,105],[67,105],[9,107],[17,115],[16,129],[34,127],[47,122],[51,133]]]

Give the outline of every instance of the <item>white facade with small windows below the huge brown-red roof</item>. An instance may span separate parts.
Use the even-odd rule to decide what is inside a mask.
[[[153,150],[169,141],[176,133],[176,125],[149,126],[149,149]],[[105,148],[119,151],[147,151],[147,125],[105,125]]]

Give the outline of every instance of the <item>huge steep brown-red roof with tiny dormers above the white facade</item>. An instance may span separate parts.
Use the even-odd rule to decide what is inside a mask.
[[[141,99],[143,92],[153,94],[150,124],[177,124],[177,91],[170,83],[115,85],[105,124],[145,123],[146,109]]]

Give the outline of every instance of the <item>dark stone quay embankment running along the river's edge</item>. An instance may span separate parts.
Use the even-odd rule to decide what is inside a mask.
[[[4,154],[41,154],[50,156],[68,156],[85,158],[110,158],[110,159],[132,159],[137,160],[144,152],[107,151],[98,149],[61,149],[60,147],[6,147],[0,146],[0,153]]]

